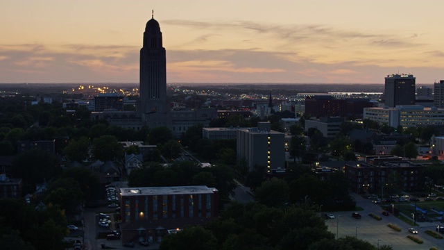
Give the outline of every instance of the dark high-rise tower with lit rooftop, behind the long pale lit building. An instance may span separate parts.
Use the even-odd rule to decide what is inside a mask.
[[[385,105],[395,108],[398,105],[415,104],[416,78],[411,74],[391,74],[385,78]]]

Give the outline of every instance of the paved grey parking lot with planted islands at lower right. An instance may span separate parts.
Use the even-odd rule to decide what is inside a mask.
[[[424,242],[418,244],[407,238],[409,233],[408,228],[411,226],[393,215],[382,215],[382,208],[377,204],[371,202],[371,200],[363,199],[359,195],[353,195],[357,201],[357,206],[364,208],[363,211],[357,211],[361,215],[361,219],[355,219],[352,217],[354,211],[331,213],[335,216],[335,219],[327,219],[325,223],[328,226],[328,230],[339,236],[339,238],[346,235],[357,237],[361,240],[366,240],[371,244],[377,246],[388,244],[393,249],[430,249],[431,247],[437,247],[438,244],[444,247],[444,240],[436,240],[431,236],[425,234],[426,230],[435,230],[436,224],[431,222],[419,222],[420,226],[415,228],[418,230],[418,234],[415,237],[420,238]],[[382,217],[382,220],[378,221],[368,214],[373,213]],[[395,224],[402,229],[401,232],[394,231],[387,226],[388,223]]]

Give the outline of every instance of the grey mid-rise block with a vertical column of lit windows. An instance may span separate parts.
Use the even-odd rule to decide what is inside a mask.
[[[272,131],[269,122],[259,122],[257,128],[239,128],[237,130],[237,160],[246,160],[248,169],[255,165],[271,169],[284,169],[285,149],[284,133]]]

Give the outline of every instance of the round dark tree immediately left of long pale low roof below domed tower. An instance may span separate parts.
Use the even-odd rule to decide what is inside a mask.
[[[103,162],[123,157],[123,147],[112,135],[102,135],[92,143],[94,158]]]

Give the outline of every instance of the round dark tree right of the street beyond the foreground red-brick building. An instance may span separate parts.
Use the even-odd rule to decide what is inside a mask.
[[[271,178],[256,189],[255,199],[265,206],[284,206],[289,200],[289,185],[282,179]]]

